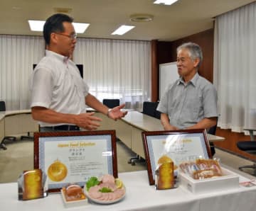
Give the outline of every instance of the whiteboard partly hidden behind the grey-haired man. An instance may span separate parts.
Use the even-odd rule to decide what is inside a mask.
[[[159,98],[161,99],[167,86],[179,78],[176,62],[159,64],[159,78]]]

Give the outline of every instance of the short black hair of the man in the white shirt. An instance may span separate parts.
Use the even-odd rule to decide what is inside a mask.
[[[43,25],[43,38],[46,40],[46,45],[50,44],[50,34],[53,32],[62,33],[64,31],[63,22],[73,22],[73,18],[63,13],[56,13],[47,18]]]

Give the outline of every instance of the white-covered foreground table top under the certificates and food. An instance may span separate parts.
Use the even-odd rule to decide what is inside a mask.
[[[256,186],[240,187],[215,193],[196,195],[179,186],[171,190],[155,190],[149,186],[147,171],[119,173],[127,194],[119,203],[112,205],[91,204],[65,208],[60,193],[51,193],[46,198],[20,201],[16,183],[0,184],[0,207],[5,210],[218,210],[255,211]],[[241,181],[247,180],[240,177]]]

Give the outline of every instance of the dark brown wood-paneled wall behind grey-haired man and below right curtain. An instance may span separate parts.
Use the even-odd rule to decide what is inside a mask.
[[[153,40],[151,45],[152,55],[154,55],[154,62],[152,60],[152,95],[153,102],[159,100],[159,64],[175,62],[176,61],[176,48],[184,42],[195,42],[201,46],[203,51],[203,62],[198,69],[198,73],[208,81],[213,82],[213,38],[214,31],[209,29],[195,35],[190,35],[186,38],[181,38],[173,42],[161,42]],[[153,88],[154,87],[154,88]],[[153,90],[154,89],[154,90]],[[156,91],[157,89],[157,91]],[[230,130],[217,129],[216,135],[225,137],[223,142],[215,142],[215,146],[225,149],[234,154],[245,156],[250,159],[255,159],[255,156],[250,156],[245,152],[240,151],[236,147],[239,140],[249,140],[250,136],[245,136],[243,133],[231,132]]]

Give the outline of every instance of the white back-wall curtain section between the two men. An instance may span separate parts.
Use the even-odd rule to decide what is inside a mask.
[[[78,38],[73,57],[83,64],[90,93],[100,101],[119,98],[126,108],[137,110],[150,101],[150,42]]]

